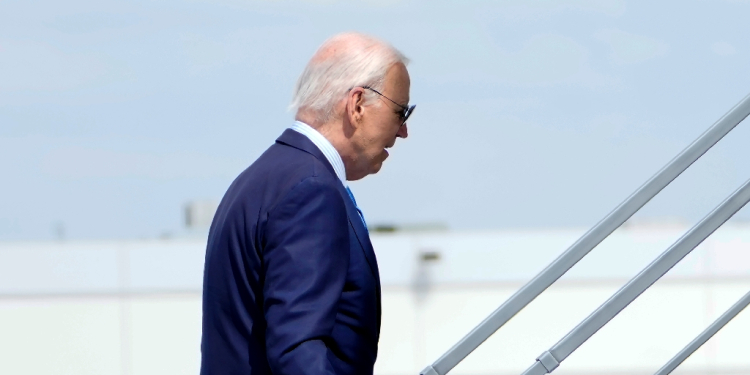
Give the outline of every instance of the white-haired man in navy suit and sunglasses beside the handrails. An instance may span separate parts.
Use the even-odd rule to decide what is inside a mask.
[[[380,279],[347,181],[378,172],[406,138],[406,63],[354,33],[308,63],[297,121],[232,183],[211,225],[201,374],[372,374]]]

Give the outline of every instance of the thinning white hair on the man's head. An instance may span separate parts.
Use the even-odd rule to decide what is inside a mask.
[[[354,87],[381,91],[385,75],[394,64],[409,60],[391,45],[373,37],[338,34],[326,40],[300,75],[290,110],[309,111],[318,124],[334,118],[336,105]],[[365,101],[375,98],[369,90]]]

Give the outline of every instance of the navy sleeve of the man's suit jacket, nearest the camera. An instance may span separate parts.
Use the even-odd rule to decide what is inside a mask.
[[[275,375],[334,374],[327,343],[349,266],[348,225],[337,187],[316,177],[269,213],[263,296]]]

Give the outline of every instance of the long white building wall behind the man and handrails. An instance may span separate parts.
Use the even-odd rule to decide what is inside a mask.
[[[451,374],[520,374],[687,226],[615,232]],[[377,374],[418,374],[584,232],[374,233]],[[197,374],[203,238],[0,243],[0,374]],[[750,224],[728,223],[556,374],[651,374],[750,290]],[[750,312],[676,373],[750,374]]]

